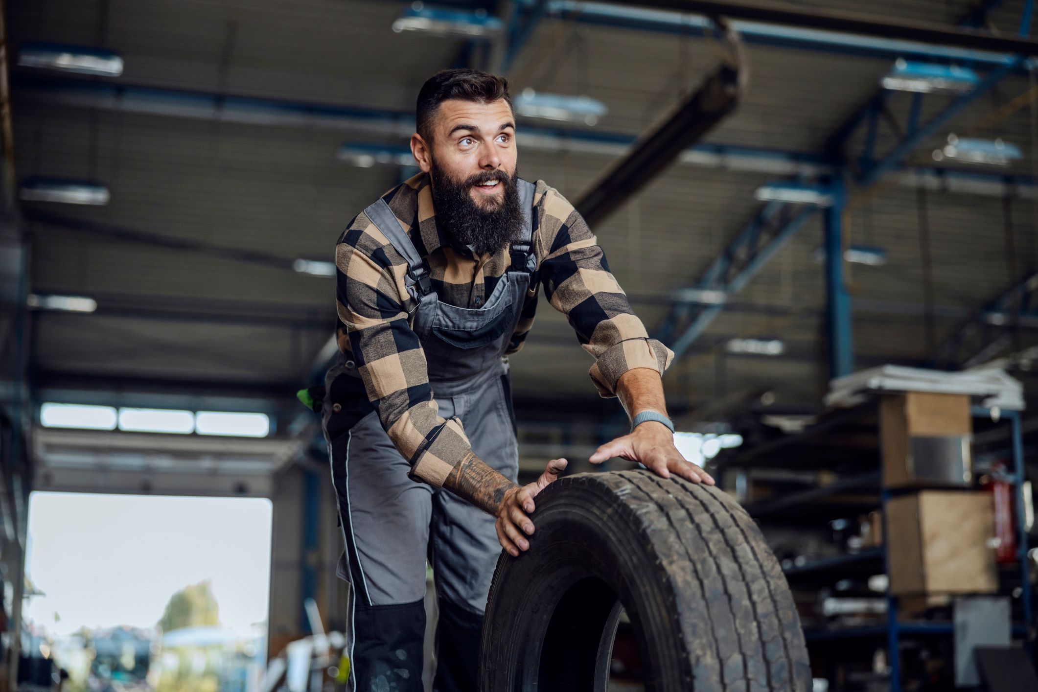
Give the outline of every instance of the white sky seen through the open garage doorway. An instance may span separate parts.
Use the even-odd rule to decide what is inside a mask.
[[[273,506],[263,498],[34,492],[25,615],[52,634],[152,627],[175,591],[213,582],[220,624],[267,619]],[[54,621],[54,612],[61,616]]]

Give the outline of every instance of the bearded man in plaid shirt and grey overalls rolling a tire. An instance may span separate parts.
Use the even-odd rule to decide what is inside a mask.
[[[580,215],[516,168],[508,82],[474,70],[421,87],[411,151],[421,172],[367,206],[335,248],[339,356],[323,425],[350,585],[352,689],[421,690],[427,558],[439,692],[475,690],[480,631],[500,548],[529,548],[535,498],[566,468],[516,485],[508,357],[541,286],[619,396],[630,434],[591,456],[713,483],[674,446],[650,339]]]

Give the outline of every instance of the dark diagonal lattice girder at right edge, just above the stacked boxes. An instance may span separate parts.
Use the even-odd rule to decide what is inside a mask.
[[[1030,272],[986,303],[937,347],[933,360],[948,367],[971,367],[998,356],[1021,320],[1032,315],[1038,272]]]

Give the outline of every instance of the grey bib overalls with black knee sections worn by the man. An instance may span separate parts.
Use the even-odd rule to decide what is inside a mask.
[[[406,284],[417,302],[412,328],[439,415],[458,417],[472,450],[513,481],[518,447],[504,352],[537,269],[534,185],[518,186],[524,231],[512,244],[511,267],[479,309],[439,300],[427,264],[383,200],[364,210],[408,261]],[[428,556],[439,610],[434,690],[474,691],[483,613],[501,550],[494,518],[408,477],[410,465],[382,428],[352,361],[339,358],[326,390],[324,431],[346,544],[336,574],[351,585],[350,689],[422,689]]]

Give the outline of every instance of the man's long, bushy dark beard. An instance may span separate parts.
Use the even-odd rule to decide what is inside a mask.
[[[504,195],[501,201],[495,200],[493,206],[488,204],[487,209],[483,209],[472,199],[472,186],[491,178],[503,186]],[[470,175],[459,184],[434,160],[432,186],[436,218],[459,245],[470,247],[477,255],[493,254],[519,238],[523,229],[518,179],[518,169],[512,177],[504,171],[495,170]]]

